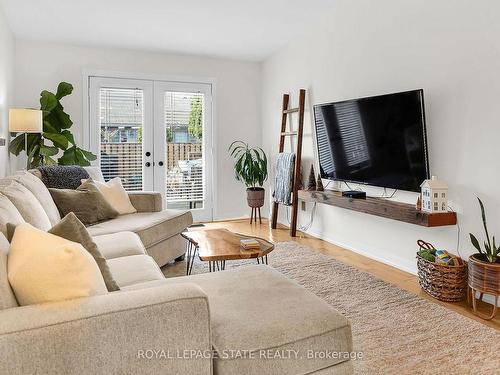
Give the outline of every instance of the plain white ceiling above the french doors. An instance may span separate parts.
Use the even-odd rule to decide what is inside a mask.
[[[334,0],[0,0],[18,38],[260,61]]]

